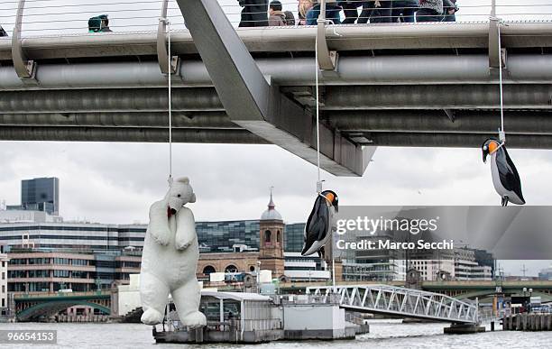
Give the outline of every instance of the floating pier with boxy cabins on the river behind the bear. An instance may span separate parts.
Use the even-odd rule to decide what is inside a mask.
[[[354,339],[369,332],[365,324],[346,321],[337,302],[313,296],[267,297],[253,293],[203,291],[200,310],[207,326],[188,329],[169,319],[169,330],[153,330],[157,343],[259,344],[278,340]],[[178,317],[176,312],[172,316]]]

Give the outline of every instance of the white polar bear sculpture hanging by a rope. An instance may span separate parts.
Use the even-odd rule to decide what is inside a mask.
[[[187,203],[196,202],[189,179],[175,180],[161,201],[150,208],[140,271],[142,322],[157,325],[163,320],[169,294],[182,325],[207,325],[198,311],[201,291],[196,279],[199,248],[196,222]]]

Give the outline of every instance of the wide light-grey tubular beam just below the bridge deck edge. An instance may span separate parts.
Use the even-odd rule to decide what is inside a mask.
[[[262,75],[281,86],[312,86],[316,62],[312,57],[259,58]],[[386,55],[340,57],[339,74],[324,78],[324,85],[445,85],[496,84],[488,57],[465,55]],[[154,61],[45,64],[36,72],[39,85],[29,86],[11,66],[0,67],[0,89],[28,90],[97,87],[166,87],[167,77]],[[212,87],[201,60],[182,60],[174,87]],[[552,83],[552,54],[510,54],[505,84]]]

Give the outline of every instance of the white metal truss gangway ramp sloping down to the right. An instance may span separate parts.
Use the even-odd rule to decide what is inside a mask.
[[[414,317],[455,324],[477,324],[476,304],[439,293],[388,285],[309,287],[307,293],[327,303],[337,298],[340,308],[395,317]]]

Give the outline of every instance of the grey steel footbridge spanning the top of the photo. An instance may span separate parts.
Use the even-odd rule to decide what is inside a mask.
[[[236,29],[235,1],[37,1],[0,18],[0,140],[167,142],[170,77],[173,142],[275,144],[316,163],[319,106],[322,168],[361,176],[378,146],[496,136],[502,75],[509,146],[552,148],[549,5],[465,0],[456,23]],[[87,32],[103,12],[114,32]]]

